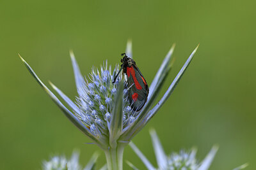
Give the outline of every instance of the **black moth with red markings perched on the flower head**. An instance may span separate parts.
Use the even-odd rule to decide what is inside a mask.
[[[147,102],[148,84],[140,69],[136,66],[136,62],[127,57],[125,53],[122,53],[122,56],[124,57],[121,59],[121,69],[116,74],[113,83],[115,83],[118,74],[123,69],[123,74],[127,75],[128,99],[131,103],[131,108],[134,111],[140,111]]]

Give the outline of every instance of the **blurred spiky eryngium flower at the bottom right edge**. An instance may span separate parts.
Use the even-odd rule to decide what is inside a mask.
[[[214,159],[218,146],[213,146],[211,151],[207,154],[204,160],[200,162],[196,159],[196,149],[192,148],[191,151],[186,152],[181,150],[179,153],[171,153],[166,155],[163,150],[163,146],[156,134],[156,131],[152,129],[150,136],[153,143],[154,152],[157,160],[157,167],[154,167],[149,160],[143,155],[143,153],[137,148],[134,143],[130,143],[132,150],[140,157],[141,161],[145,164],[148,170],[207,170],[211,166],[212,160]],[[138,170],[131,162],[127,161],[127,164],[134,170]],[[243,164],[233,170],[244,169],[248,164]]]

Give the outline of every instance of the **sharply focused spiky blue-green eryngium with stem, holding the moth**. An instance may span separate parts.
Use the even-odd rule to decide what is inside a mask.
[[[113,77],[119,69],[118,66],[116,66],[113,71],[111,71],[110,66],[108,67],[108,64],[101,66],[100,69],[93,67],[92,73],[90,73],[89,76],[90,81],[88,81],[80,73],[74,53],[70,52],[78,93],[76,101],[74,102],[69,99],[60,89],[50,82],[52,88],[56,90],[58,95],[70,108],[68,109],[61,103],[58,97],[44,85],[29,64],[22,59],[22,57],[20,57],[20,59],[24,62],[39,85],[63,111],[65,116],[88,136],[93,143],[104,150],[108,169],[122,170],[124,146],[141,131],[149,120],[156,115],[157,111],[163,106],[168,97],[170,97],[198,48],[197,46],[191,53],[164,96],[154,106],[153,104],[156,97],[163,87],[163,82],[166,80],[166,76],[171,69],[170,61],[174,47],[175,45],[173,45],[167,53],[150,85],[147,103],[145,103],[145,106],[138,112],[133,111],[129,106],[130,104],[127,101],[127,90],[129,89],[125,89],[122,74],[118,76],[114,84],[112,83]],[[132,58],[131,42],[127,43],[126,53]]]

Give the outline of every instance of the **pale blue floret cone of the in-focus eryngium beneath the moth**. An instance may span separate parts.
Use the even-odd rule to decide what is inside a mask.
[[[111,67],[108,64],[99,69],[92,68],[88,79],[84,78],[83,86],[80,95],[76,97],[76,103],[79,111],[74,111],[79,120],[83,122],[90,131],[98,138],[102,135],[109,135],[109,124],[113,116],[113,107],[115,106],[115,96],[118,85],[122,79],[121,75],[116,78],[115,83],[112,83],[115,74],[118,71],[118,66],[111,72]],[[127,100],[127,89],[124,89],[123,94],[123,129],[131,124],[136,112],[132,111],[129,100]]]

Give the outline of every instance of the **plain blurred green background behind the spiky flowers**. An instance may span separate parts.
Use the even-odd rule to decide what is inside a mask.
[[[40,169],[51,153],[81,150],[86,164],[97,146],[72,125],[39,87],[17,53],[47,83],[74,99],[68,50],[81,72],[120,62],[127,39],[150,83],[173,43],[175,64],[159,97],[200,43],[188,71],[156,117],[134,139],[156,165],[148,129],[166,153],[198,147],[202,160],[220,145],[211,169],[249,162],[256,169],[255,1],[0,1],[0,169]],[[48,85],[48,83],[47,83]],[[100,152],[99,166],[105,162]],[[127,147],[124,160],[140,169]],[[124,164],[124,169],[129,167]]]

